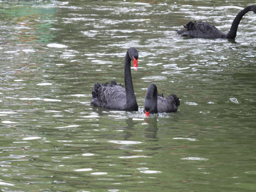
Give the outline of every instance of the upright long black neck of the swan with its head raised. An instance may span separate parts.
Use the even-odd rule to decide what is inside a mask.
[[[129,111],[138,111],[138,104],[134,95],[132,74],[131,74],[131,58],[127,51],[124,60],[124,84],[126,92],[126,105],[125,109]]]

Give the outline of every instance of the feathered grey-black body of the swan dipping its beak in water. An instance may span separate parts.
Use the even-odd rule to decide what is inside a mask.
[[[163,97],[163,94],[158,94],[157,98],[157,110],[158,113],[171,113],[178,110],[180,105],[179,98],[177,95],[171,94],[168,97]]]

